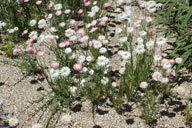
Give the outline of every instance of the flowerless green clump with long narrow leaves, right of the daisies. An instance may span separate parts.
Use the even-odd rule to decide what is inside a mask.
[[[192,67],[192,13],[190,1],[188,0],[156,0],[162,2],[163,8],[155,16],[157,24],[166,25],[162,28],[168,38],[173,38],[174,42],[169,44],[173,46],[170,57],[182,57],[183,63],[177,66],[176,72],[183,66],[190,69]]]

